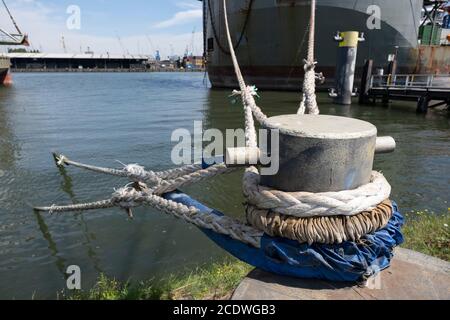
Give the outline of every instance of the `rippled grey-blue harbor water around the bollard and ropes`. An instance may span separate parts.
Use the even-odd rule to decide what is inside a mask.
[[[36,205],[109,198],[126,180],[68,167],[73,160],[117,167],[139,163],[173,167],[173,130],[242,128],[243,113],[229,90],[211,90],[202,73],[16,74],[0,88],[0,298],[57,298],[65,271],[81,268],[82,287],[101,273],[146,280],[218,261],[227,253],[195,227],[150,208],[129,220],[119,209],[85,214],[38,214]],[[299,84],[300,87],[300,84]],[[295,113],[300,94],[262,92],[270,116]],[[447,111],[417,115],[415,104],[389,107],[333,105],[319,96],[323,114],[372,122],[391,135],[395,153],[377,155],[402,212],[447,213],[450,207],[450,118]],[[243,218],[241,173],[184,189],[207,205]]]

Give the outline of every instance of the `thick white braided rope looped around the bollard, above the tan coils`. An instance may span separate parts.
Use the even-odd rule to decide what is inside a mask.
[[[258,170],[255,167],[247,169],[243,190],[249,204],[300,218],[356,215],[375,209],[381,202],[389,199],[391,193],[391,186],[386,178],[375,171],[369,184],[340,192],[283,192],[259,183]]]

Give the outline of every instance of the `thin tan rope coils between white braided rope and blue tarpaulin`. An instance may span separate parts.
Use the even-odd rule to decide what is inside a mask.
[[[387,226],[392,217],[390,201],[355,216],[297,218],[247,206],[247,221],[272,237],[296,240],[300,243],[335,244],[356,242],[363,236]]]

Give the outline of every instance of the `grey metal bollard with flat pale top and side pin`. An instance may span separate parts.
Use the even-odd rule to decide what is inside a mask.
[[[374,125],[352,118],[282,115],[267,129],[280,131],[280,168],[261,183],[288,192],[356,189],[370,182],[376,151],[395,149],[393,138],[377,141]]]

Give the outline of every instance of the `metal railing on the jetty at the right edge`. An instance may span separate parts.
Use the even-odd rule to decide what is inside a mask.
[[[448,74],[397,74],[373,75],[370,88],[435,88],[450,89],[450,75]]]

